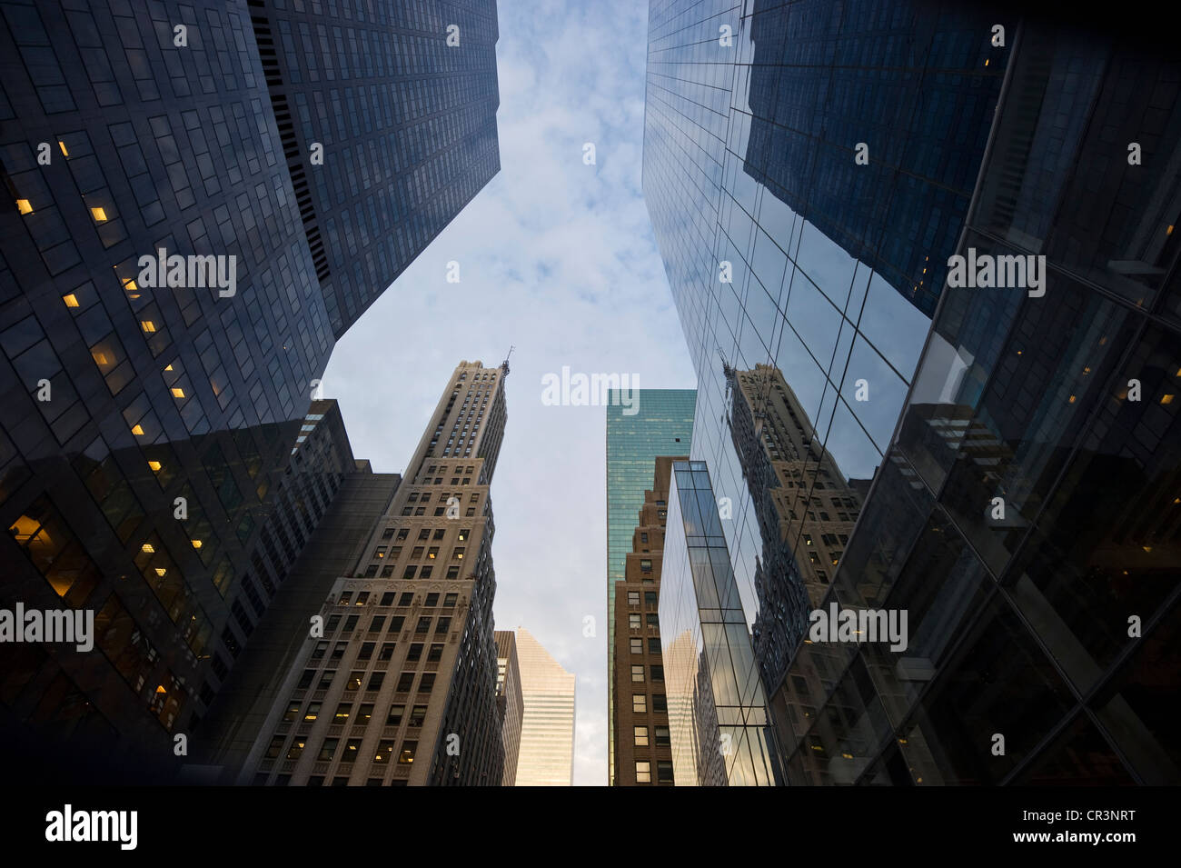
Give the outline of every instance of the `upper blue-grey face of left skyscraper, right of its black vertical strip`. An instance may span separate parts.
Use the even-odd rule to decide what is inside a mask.
[[[500,171],[496,1],[247,5],[339,338]]]

